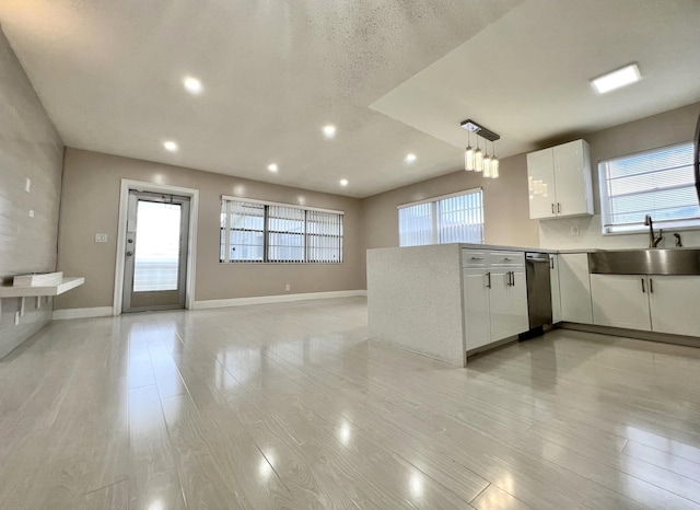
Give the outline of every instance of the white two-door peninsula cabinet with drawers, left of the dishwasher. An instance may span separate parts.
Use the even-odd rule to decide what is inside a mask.
[[[467,350],[528,328],[525,256],[522,252],[463,251],[463,298]],[[486,267],[482,267],[485,265]]]

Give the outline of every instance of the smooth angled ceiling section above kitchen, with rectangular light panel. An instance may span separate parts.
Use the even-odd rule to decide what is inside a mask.
[[[641,82],[594,92],[631,62]],[[469,116],[512,155],[700,101],[699,62],[698,0],[529,0],[371,107],[459,148]]]

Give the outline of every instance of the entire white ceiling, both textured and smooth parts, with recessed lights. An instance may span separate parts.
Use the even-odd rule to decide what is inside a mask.
[[[700,101],[699,8],[1,0],[0,22],[70,147],[362,197],[457,170],[467,117],[498,131],[506,155]],[[592,93],[590,78],[629,61],[644,81]]]

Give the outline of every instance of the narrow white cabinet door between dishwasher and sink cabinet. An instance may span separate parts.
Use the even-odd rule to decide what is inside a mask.
[[[561,292],[561,320],[593,324],[588,254],[563,253],[559,255],[559,289]]]

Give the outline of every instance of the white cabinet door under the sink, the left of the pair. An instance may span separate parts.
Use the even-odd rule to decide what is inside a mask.
[[[641,275],[591,275],[593,324],[649,332],[650,282]]]

